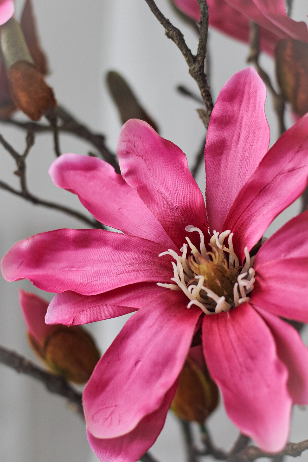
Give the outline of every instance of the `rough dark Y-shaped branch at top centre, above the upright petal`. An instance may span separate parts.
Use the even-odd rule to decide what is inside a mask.
[[[151,9],[151,12],[158,19],[160,24],[165,29],[165,35],[170,38],[187,62],[189,73],[196,81],[203,103],[205,105],[205,111],[207,116],[207,125],[210,121],[211,111],[213,109],[213,101],[210,93],[209,86],[206,80],[206,74],[204,71],[205,67],[205,56],[206,56],[206,43],[207,43],[207,31],[209,24],[208,6],[206,0],[198,0],[200,8],[200,28],[199,28],[199,44],[197,54],[193,55],[191,50],[188,48],[187,43],[184,40],[184,36],[181,30],[177,29],[173,24],[170,23],[169,19],[165,18],[163,13],[158,9],[154,0],[145,0]]]

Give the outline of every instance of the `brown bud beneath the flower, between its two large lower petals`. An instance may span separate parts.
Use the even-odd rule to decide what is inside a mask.
[[[204,424],[205,419],[216,409],[218,389],[207,369],[187,357],[179,377],[178,388],[171,403],[171,410],[183,420]]]

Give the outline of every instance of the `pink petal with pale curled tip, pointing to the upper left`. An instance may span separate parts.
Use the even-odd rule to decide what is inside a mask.
[[[56,186],[77,194],[98,221],[131,236],[172,247],[162,225],[115,169],[101,159],[63,154],[49,169]]]

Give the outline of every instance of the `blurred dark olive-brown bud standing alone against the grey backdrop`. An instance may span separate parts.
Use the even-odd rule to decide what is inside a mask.
[[[145,112],[145,109],[140,105],[130,86],[119,73],[114,71],[107,73],[107,84],[110,94],[119,110],[122,123],[127,122],[129,119],[144,120],[158,133],[156,123]]]

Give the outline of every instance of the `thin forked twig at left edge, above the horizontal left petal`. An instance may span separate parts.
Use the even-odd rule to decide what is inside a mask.
[[[66,213],[67,215],[70,215],[71,217],[74,217],[74,218],[77,218],[83,221],[88,226],[91,226],[91,228],[104,229],[104,226],[101,223],[99,223],[95,219],[88,218],[83,213],[79,213],[76,210],[73,210],[69,207],[62,206],[55,202],[44,201],[43,199],[40,199],[39,197],[30,193],[28,186],[27,186],[27,180],[26,180],[26,158],[30,152],[31,147],[34,144],[34,139],[35,139],[34,133],[31,131],[28,132],[27,137],[26,137],[26,148],[24,150],[24,153],[18,154],[18,152],[15,151],[15,149],[0,134],[0,144],[6,149],[7,152],[10,153],[10,155],[12,156],[12,158],[14,158],[16,162],[17,170],[15,174],[19,176],[20,190],[12,188],[12,186],[10,186],[9,184],[1,180],[0,180],[0,189],[4,189],[5,191],[8,191],[19,197],[22,197],[24,200],[32,202],[32,204],[41,205],[41,206],[48,207],[54,210],[59,210],[60,212]]]

